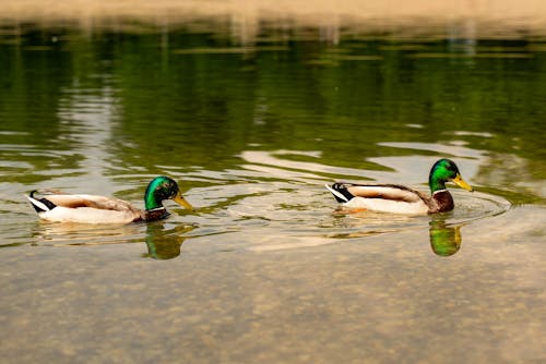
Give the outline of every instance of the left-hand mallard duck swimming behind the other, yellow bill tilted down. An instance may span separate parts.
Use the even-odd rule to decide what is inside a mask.
[[[43,197],[36,197],[36,193],[37,191],[33,191],[25,196],[38,216],[49,221],[86,223],[155,221],[170,215],[163,206],[165,199],[173,199],[192,209],[182,197],[178,184],[164,175],[156,177],[147,185],[144,193],[145,210],[114,197],[80,194],[46,194]]]

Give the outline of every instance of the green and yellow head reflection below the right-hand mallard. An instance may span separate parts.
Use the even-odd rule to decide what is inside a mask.
[[[430,220],[430,247],[436,255],[450,256],[461,248],[461,225],[450,226],[441,218]]]

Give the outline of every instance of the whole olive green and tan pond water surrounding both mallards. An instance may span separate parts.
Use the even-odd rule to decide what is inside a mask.
[[[2,362],[546,361],[546,37],[129,25],[0,27]],[[426,191],[441,157],[476,191],[439,216],[323,187]],[[48,223],[23,196],[142,206],[157,174],[195,211]]]

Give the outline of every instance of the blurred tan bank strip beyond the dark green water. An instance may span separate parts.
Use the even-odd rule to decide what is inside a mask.
[[[0,32],[27,22],[75,23],[82,27],[116,27],[128,22],[153,25],[216,19],[252,38],[261,27],[313,26],[343,32],[449,34],[463,28],[471,38],[542,37],[546,35],[543,0],[2,0]],[[418,25],[416,27],[416,25]],[[412,29],[412,31],[408,31]],[[410,34],[408,34],[410,32]],[[418,35],[418,34],[417,34]],[[334,35],[335,36],[335,35]]]

